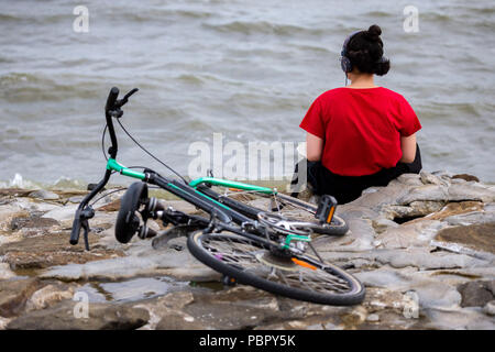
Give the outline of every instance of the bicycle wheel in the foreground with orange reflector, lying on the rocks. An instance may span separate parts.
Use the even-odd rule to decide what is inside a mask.
[[[196,232],[189,235],[187,246],[207,266],[276,295],[334,306],[358,305],[364,299],[364,286],[338,266],[309,255],[282,256],[254,239]]]

